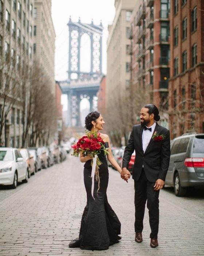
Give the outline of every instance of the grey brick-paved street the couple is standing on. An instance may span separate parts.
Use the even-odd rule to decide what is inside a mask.
[[[28,184],[0,202],[0,256],[204,255],[204,196],[179,198],[172,189],[161,191],[159,246],[151,248],[147,209],[144,241],[134,241],[133,180],[126,184],[112,169],[109,176],[108,200],[122,223],[119,244],[94,252],[68,248],[78,236],[86,204],[83,165],[69,156],[67,161],[36,173]],[[0,194],[4,192],[0,189]]]

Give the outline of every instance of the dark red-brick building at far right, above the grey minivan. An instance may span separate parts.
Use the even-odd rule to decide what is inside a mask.
[[[204,132],[204,1],[170,4],[169,124],[172,138]]]

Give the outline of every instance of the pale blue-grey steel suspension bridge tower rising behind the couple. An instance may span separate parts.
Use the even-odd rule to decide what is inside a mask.
[[[90,112],[93,111],[93,99],[97,95],[102,79],[102,33],[103,26],[68,22],[69,29],[69,57],[68,57],[68,79],[60,82],[63,94],[67,94],[68,111],[67,126],[81,127],[80,102],[86,98],[90,102]],[[91,65],[90,72],[82,72],[80,67],[81,37],[83,34],[90,37]]]

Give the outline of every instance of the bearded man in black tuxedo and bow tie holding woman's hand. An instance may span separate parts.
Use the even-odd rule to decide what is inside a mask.
[[[153,104],[141,109],[141,125],[134,125],[125,147],[122,161],[121,178],[125,180],[131,155],[135,150],[132,177],[135,188],[135,241],[142,242],[145,204],[149,210],[151,228],[150,246],[157,247],[159,226],[159,192],[164,187],[170,159],[169,130],[158,125],[159,111]]]

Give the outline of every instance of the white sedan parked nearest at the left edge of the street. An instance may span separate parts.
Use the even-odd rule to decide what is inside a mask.
[[[16,188],[19,181],[28,182],[27,167],[17,148],[0,147],[0,185]]]

